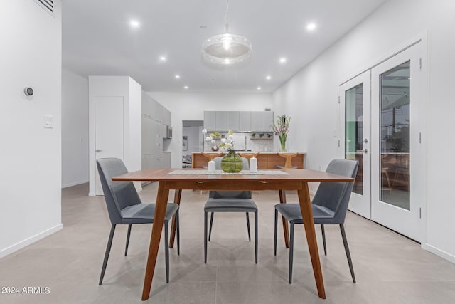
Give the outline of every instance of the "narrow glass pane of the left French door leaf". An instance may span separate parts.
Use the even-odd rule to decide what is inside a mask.
[[[353,192],[363,194],[363,84],[345,93],[345,158],[358,160]]]

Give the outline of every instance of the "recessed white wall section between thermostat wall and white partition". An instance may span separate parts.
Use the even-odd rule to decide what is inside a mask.
[[[88,182],[88,79],[62,70],[62,187]]]

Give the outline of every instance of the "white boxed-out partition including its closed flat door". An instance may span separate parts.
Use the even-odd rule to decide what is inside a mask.
[[[109,100],[112,102],[112,107],[106,104]],[[117,107],[119,103],[121,105]],[[102,112],[97,112],[96,109]],[[107,111],[113,111],[110,114],[119,115],[115,109],[121,111],[119,119],[112,119],[107,113]],[[104,123],[100,123],[97,119],[103,119],[105,123],[117,124],[115,127],[120,131],[109,134],[108,129],[102,129]],[[97,123],[100,129],[106,132],[97,132],[100,131],[96,128]],[[128,76],[89,76],[89,137],[89,195],[102,193],[100,187],[97,187],[97,157],[119,157],[129,171],[141,169],[141,85],[139,83]],[[96,144],[100,140],[105,145],[110,145],[109,147],[112,145],[118,147],[118,141],[122,141],[122,147],[120,147],[122,151],[112,152],[106,146],[97,147]],[[136,184],[136,188],[140,189],[140,183]]]

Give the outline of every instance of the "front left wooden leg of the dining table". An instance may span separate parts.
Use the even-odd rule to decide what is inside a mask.
[[[144,288],[142,289],[142,300],[147,300],[150,295],[151,281],[154,278],[156,258],[158,256],[159,240],[163,230],[166,205],[168,204],[169,190],[165,187],[166,182],[159,182],[158,194],[156,194],[156,206],[154,224],[151,229],[149,258],[145,269]]]

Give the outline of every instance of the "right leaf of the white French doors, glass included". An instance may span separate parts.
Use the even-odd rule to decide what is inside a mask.
[[[417,241],[425,179],[421,44],[371,70],[371,219]]]

